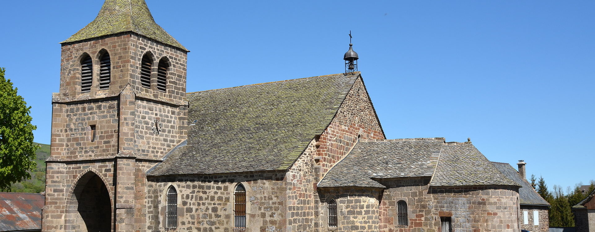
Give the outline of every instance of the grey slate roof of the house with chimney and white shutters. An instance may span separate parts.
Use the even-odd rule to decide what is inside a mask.
[[[541,198],[539,193],[531,187],[531,184],[527,182],[526,179],[519,176],[519,173],[511,166],[511,164],[498,162],[492,163],[502,174],[508,177],[508,179],[513,180],[521,186],[519,189],[519,201],[521,205],[550,205],[546,200]]]

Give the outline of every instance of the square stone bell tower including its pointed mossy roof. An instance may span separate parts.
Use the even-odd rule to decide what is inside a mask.
[[[42,231],[146,231],[145,173],[186,139],[189,50],[144,0],[105,0],[61,45]]]

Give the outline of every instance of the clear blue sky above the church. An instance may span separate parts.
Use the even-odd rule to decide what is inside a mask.
[[[388,138],[471,138],[550,189],[595,179],[595,1],[146,1],[191,51],[188,91],[343,72],[352,30]],[[2,3],[0,67],[36,142],[50,141],[58,43],[102,3]]]

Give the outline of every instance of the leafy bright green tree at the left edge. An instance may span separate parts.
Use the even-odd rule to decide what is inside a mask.
[[[0,68],[0,190],[10,190],[10,184],[31,178],[30,170],[37,166],[33,144],[33,130],[29,116],[31,107],[23,97],[18,96],[17,88],[4,78],[4,68]]]

